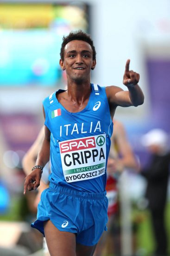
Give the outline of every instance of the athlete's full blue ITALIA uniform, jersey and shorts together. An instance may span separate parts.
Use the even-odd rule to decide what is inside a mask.
[[[43,102],[45,125],[51,132],[50,188],[42,193],[38,219],[32,226],[44,234],[42,221],[50,219],[57,229],[76,233],[78,243],[91,246],[106,229],[106,166],[113,122],[104,87],[91,84],[87,106],[76,113],[57,101],[56,94],[63,91]],[[52,207],[51,201],[55,201]]]

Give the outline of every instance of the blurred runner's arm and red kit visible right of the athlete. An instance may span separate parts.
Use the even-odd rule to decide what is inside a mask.
[[[97,244],[94,256],[103,255],[110,242],[109,253],[119,255],[120,252],[120,213],[118,203],[118,180],[126,168],[134,171],[139,169],[139,164],[133,154],[132,147],[127,139],[126,130],[120,121],[113,120],[114,132],[111,137],[111,148],[107,162],[107,198],[108,198],[108,232],[104,232]],[[109,239],[108,239],[109,238]],[[108,240],[108,241],[107,241]]]

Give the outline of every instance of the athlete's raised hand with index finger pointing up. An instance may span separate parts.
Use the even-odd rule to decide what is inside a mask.
[[[139,82],[140,75],[133,70],[129,70],[129,64],[130,60],[127,60],[123,76],[123,84],[127,87],[134,87]]]

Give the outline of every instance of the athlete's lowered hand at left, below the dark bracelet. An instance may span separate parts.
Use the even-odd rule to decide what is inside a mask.
[[[24,195],[26,193],[26,190],[31,191],[36,190],[38,188],[40,184],[41,175],[41,169],[36,168],[31,172],[31,174],[25,177]]]

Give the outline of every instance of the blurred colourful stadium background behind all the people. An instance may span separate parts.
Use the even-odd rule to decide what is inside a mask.
[[[161,128],[170,135],[169,0],[0,0],[2,256],[27,256],[42,248],[41,235],[30,228],[36,209],[34,192],[23,196],[22,159],[44,123],[43,99],[66,85],[59,66],[63,35],[78,29],[94,40],[97,65],[92,82],[126,89],[122,81],[127,59],[131,60],[130,69],[140,74],[145,103],[138,108],[118,108],[115,114],[115,119],[124,124],[139,162],[144,166],[149,157],[141,143],[145,133]],[[149,256],[155,242],[144,198],[146,181],[128,172],[126,187],[134,238],[132,254],[124,249],[120,255]],[[166,228],[170,244],[169,194]]]

